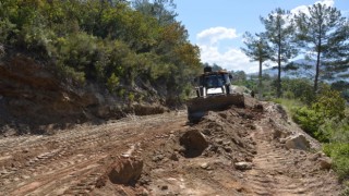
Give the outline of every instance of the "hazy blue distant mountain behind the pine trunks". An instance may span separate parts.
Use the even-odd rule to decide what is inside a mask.
[[[286,65],[282,65],[281,70],[281,77],[289,77],[289,78],[314,78],[315,76],[315,61],[299,59],[292,61]],[[325,70],[325,69],[322,69]],[[277,66],[273,66],[269,69],[265,69],[262,71],[263,74],[268,74],[269,76],[277,76],[278,70]],[[249,74],[251,76],[258,75],[258,73]],[[321,74],[321,79],[327,83],[334,83],[337,81],[346,81],[349,82],[349,78],[342,77],[344,75],[349,75],[349,69],[346,72],[341,72],[338,74]]]

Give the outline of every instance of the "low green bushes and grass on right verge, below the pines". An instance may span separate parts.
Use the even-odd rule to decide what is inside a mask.
[[[333,169],[349,193],[349,113],[340,93],[324,86],[321,93],[305,103],[287,97],[275,99],[302,130],[323,144],[323,151],[333,159]]]

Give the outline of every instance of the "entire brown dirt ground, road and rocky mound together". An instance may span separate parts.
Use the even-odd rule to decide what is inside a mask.
[[[130,115],[0,138],[0,195],[338,195],[316,140],[278,105]]]

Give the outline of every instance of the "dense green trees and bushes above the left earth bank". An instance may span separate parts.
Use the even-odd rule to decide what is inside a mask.
[[[201,62],[174,8],[172,0],[1,0],[0,46],[53,64],[65,83],[97,84],[130,101],[154,89],[181,101]]]

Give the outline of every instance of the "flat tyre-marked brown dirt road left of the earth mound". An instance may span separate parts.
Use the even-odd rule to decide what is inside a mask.
[[[52,136],[3,138],[0,143],[0,195],[87,194],[110,163],[108,156],[127,151],[140,137],[147,140],[159,137],[159,134],[146,132],[164,126],[164,122],[177,121],[184,122],[185,117],[178,113],[129,117]]]

